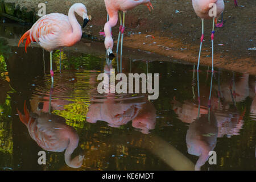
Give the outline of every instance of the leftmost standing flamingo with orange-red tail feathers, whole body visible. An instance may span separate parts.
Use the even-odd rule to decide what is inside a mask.
[[[84,19],[84,25],[82,26],[84,28],[89,22],[87,10],[82,3],[76,3],[69,9],[68,16],[59,13],[42,16],[19,40],[20,44],[24,39],[27,39],[26,52],[27,46],[31,42],[39,43],[41,47],[50,52],[52,82],[52,51],[61,47],[73,46],[81,40],[82,29],[79,22],[77,22],[75,13]]]

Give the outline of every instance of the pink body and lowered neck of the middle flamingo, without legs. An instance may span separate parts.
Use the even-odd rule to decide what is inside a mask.
[[[123,11],[126,13],[127,10],[134,9],[138,5],[146,5],[148,9],[152,7],[150,0],[104,0],[106,5],[106,10],[109,14],[109,21],[105,23],[105,47],[106,49],[113,49],[113,39],[112,39],[112,27],[117,24],[118,21],[118,11]],[[151,9],[150,9],[151,10]],[[124,27],[123,27],[124,31]]]

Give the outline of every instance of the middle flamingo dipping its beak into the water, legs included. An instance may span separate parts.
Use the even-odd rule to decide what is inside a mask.
[[[119,40],[120,36],[122,34],[121,39],[121,55],[123,52],[123,33],[125,32],[125,13],[127,10],[134,9],[134,7],[138,5],[146,5],[148,9],[151,11],[150,7],[153,9],[153,6],[150,2],[150,0],[104,0],[106,5],[106,10],[109,14],[109,21],[105,23],[104,31],[105,31],[105,47],[108,52],[108,56],[114,57],[113,54],[113,46],[114,41],[112,38],[112,27],[114,27],[117,24],[118,20],[118,13],[119,13],[119,19],[120,19],[120,27],[119,27],[119,35],[118,35],[118,42],[117,42],[117,53],[118,53],[118,47],[119,47]],[[123,22],[121,18],[121,13],[119,11],[123,11]]]

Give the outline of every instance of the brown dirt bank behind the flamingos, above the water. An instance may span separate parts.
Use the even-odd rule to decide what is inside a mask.
[[[38,9],[39,0],[7,0],[18,2],[28,9]],[[106,21],[104,0],[50,0],[47,14],[52,12],[67,14],[69,7],[76,2],[84,3],[92,21],[85,32],[104,40],[98,32],[103,31]],[[151,0],[154,10],[138,6],[126,16],[124,45],[127,47],[156,52],[170,57],[197,63],[200,46],[201,20],[193,12],[191,1]],[[255,50],[255,1],[239,1],[235,8],[233,1],[225,1],[224,27],[216,28],[214,37],[214,67],[231,69],[256,75]],[[210,31],[212,22],[205,21],[205,41],[201,63],[211,65]],[[91,26],[91,27],[90,27]],[[113,28],[113,38],[117,40],[118,28]],[[154,38],[147,35],[153,35]]]

